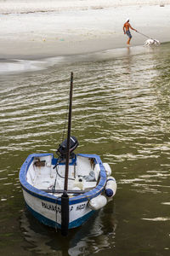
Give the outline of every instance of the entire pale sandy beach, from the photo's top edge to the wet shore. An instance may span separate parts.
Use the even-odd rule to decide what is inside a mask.
[[[38,4],[39,3],[39,4]],[[41,3],[41,4],[40,4]],[[169,3],[169,4],[168,4]],[[126,47],[127,17],[139,32],[170,41],[170,1],[35,1],[1,5],[1,59],[77,55]],[[147,38],[132,32],[132,46]]]

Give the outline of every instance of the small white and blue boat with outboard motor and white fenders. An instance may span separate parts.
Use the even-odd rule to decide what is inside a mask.
[[[76,137],[67,137],[56,158],[30,154],[20,168],[26,206],[42,224],[61,229],[64,236],[105,207],[116,193],[111,167],[97,154],[74,154],[77,145]]]

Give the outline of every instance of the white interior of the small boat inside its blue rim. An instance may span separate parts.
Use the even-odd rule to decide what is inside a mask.
[[[85,177],[94,172],[94,181],[87,181]],[[69,166],[68,190],[89,190],[97,185],[99,166],[92,165],[88,158],[77,158],[77,162]],[[64,189],[65,165],[59,164],[54,168],[50,156],[32,161],[27,172],[27,182],[37,189]]]

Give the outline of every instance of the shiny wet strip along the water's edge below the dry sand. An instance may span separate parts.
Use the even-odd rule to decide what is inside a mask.
[[[168,44],[169,43],[165,43]],[[162,47],[163,44],[161,44]],[[106,49],[102,51],[95,51],[87,54],[76,55],[33,55],[33,56],[17,56],[8,59],[0,59],[0,75],[3,79],[8,75],[14,75],[19,73],[38,72],[42,70],[48,70],[48,68],[58,67],[72,67],[74,65],[82,63],[93,63],[96,61],[111,61],[117,59],[126,58],[129,60],[133,55],[147,55],[156,53],[161,50],[159,47],[144,47],[144,45],[138,45],[133,47],[122,47],[116,49]],[[90,65],[91,65],[90,64]]]

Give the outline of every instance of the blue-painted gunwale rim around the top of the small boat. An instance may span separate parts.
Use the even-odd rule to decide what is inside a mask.
[[[25,162],[23,163],[23,165],[20,168],[20,184],[22,186],[22,189],[26,190],[26,192],[29,193],[30,195],[40,198],[43,201],[50,201],[50,202],[58,203],[60,205],[61,204],[60,196],[57,197],[55,195],[50,195],[47,192],[44,192],[40,189],[33,187],[30,183],[28,183],[26,181],[26,173],[27,173],[33,159],[35,157],[42,157],[42,156],[48,156],[48,155],[52,156],[52,160],[55,159],[54,154],[52,154],[52,153],[28,155]],[[89,201],[92,198],[96,197],[97,195],[100,195],[102,193],[102,191],[104,190],[105,183],[106,183],[105,167],[103,166],[103,163],[102,163],[99,155],[97,155],[97,154],[77,154],[77,156],[94,158],[96,160],[96,163],[99,164],[99,169],[100,169],[99,183],[97,184],[97,186],[94,189],[92,189],[82,195],[76,195],[76,196],[71,197],[69,199],[70,205],[77,204],[82,201]]]

